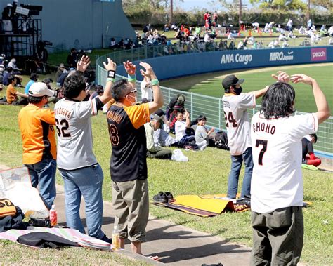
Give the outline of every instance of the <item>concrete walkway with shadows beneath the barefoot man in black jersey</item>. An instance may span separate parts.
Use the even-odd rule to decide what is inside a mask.
[[[63,187],[59,185],[57,185],[55,206],[58,211],[59,225],[65,225],[65,195]],[[84,206],[81,206],[81,218],[85,222]],[[105,201],[103,231],[108,237],[111,237],[114,220],[112,204]],[[158,255],[159,262],[169,265],[202,265],[219,262],[224,266],[249,265],[251,252],[251,249],[246,246],[233,244],[220,237],[212,237],[209,234],[154,218],[150,218],[148,222],[147,242],[143,244],[142,250],[145,255]],[[126,243],[125,251],[120,253],[152,263],[152,260],[144,256],[133,255],[129,242]]]

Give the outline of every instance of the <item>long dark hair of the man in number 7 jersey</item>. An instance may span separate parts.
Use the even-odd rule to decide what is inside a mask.
[[[266,119],[289,117],[295,112],[294,100],[294,88],[285,82],[277,82],[270,85],[268,91],[263,95],[261,113]]]

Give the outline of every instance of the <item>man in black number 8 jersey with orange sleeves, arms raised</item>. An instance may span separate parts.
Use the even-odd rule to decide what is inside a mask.
[[[121,248],[124,240],[131,241],[133,253],[141,253],[148,222],[149,199],[144,124],[150,114],[162,107],[164,100],[159,81],[152,67],[140,62],[140,72],[152,85],[153,101],[136,105],[136,65],[124,62],[128,79],[116,81],[112,87],[115,104],[107,112],[112,157],[112,204],[115,208],[115,225],[120,233]]]

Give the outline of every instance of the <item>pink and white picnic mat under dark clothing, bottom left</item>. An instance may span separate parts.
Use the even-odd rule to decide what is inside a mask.
[[[11,229],[6,232],[1,232],[0,233],[0,239],[7,239],[16,242],[18,237],[24,235],[24,234],[29,234],[33,232],[48,232],[51,234],[55,234],[58,237],[63,237],[67,240],[70,240],[72,242],[75,242],[79,244],[80,246],[84,246],[86,248],[98,248],[98,249],[103,249],[109,251],[111,248],[111,244],[100,240],[96,239],[94,237],[89,237],[86,234],[81,234],[79,230],[74,230],[71,228],[62,228],[62,227],[34,227],[34,229],[30,230],[16,230],[16,229]]]

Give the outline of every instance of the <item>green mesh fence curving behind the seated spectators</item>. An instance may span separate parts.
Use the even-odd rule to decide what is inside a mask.
[[[149,48],[149,49],[148,49]],[[156,46],[150,46],[148,48],[138,48],[128,51],[119,51],[117,53],[110,53],[109,55],[103,55],[96,60],[96,78],[98,84],[105,84],[107,73],[103,67],[102,62],[106,62],[106,58],[111,58],[117,65],[122,64],[125,60],[143,60],[145,58],[151,58],[157,55]],[[149,50],[148,52],[145,50]],[[116,79],[123,77],[116,75]],[[136,81],[136,87],[138,89],[138,99],[141,97],[140,81]],[[164,109],[169,104],[169,101],[176,97],[178,93],[185,95],[185,108],[190,112],[191,119],[195,119],[200,114],[204,114],[207,117],[207,125],[214,126],[226,130],[226,124],[224,121],[223,104],[221,98],[215,98],[211,96],[201,95],[197,93],[189,93],[186,91],[179,91],[173,88],[161,87],[164,95]],[[249,109],[249,117],[252,118],[253,114],[258,112],[260,105],[256,105],[254,109]],[[303,112],[296,112],[296,114],[305,114]],[[318,128],[318,142],[314,145],[315,150],[326,155],[327,157],[333,157],[333,117],[329,117],[327,121],[320,124]]]

